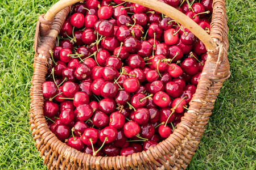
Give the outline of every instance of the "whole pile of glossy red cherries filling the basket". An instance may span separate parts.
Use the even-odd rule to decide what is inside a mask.
[[[209,33],[212,0],[159,1]],[[48,127],[94,156],[130,155],[169,137],[207,59],[203,42],[183,25],[119,0],[73,5],[50,53],[42,86]]]

